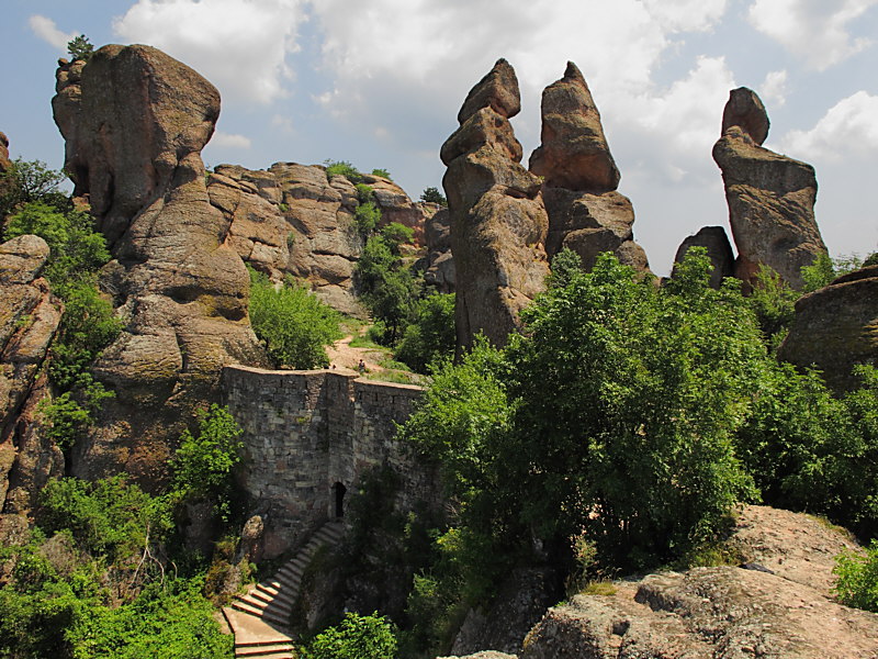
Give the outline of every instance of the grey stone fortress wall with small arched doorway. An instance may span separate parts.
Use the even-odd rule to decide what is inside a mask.
[[[263,557],[296,547],[344,515],[350,493],[375,467],[399,478],[397,510],[438,504],[434,469],[394,439],[421,389],[351,371],[272,371],[230,366],[223,393],[244,429],[240,484],[264,522]]]

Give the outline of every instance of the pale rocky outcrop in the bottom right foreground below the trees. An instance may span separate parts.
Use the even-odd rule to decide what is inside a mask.
[[[748,506],[729,545],[740,567],[616,581],[610,595],[550,608],[518,656],[878,657],[878,615],[842,606],[830,592],[833,557],[856,547],[849,538],[807,515]]]

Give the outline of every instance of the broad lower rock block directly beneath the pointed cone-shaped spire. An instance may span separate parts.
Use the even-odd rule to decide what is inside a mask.
[[[545,188],[542,198],[549,213],[545,252],[550,258],[567,247],[590,270],[598,254],[612,252],[624,265],[649,269],[646,253],[634,242],[634,209],[627,197],[616,191],[590,194]]]

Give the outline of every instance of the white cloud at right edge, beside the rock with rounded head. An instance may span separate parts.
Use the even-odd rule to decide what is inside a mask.
[[[857,91],[826,111],[810,131],[790,131],[784,150],[806,160],[873,158],[878,148],[878,96]]]

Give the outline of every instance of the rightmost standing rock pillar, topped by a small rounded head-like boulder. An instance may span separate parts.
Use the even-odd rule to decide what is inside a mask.
[[[735,275],[751,282],[764,264],[799,289],[801,268],[826,252],[814,220],[817,178],[810,165],[763,148],[767,134],[768,116],[756,93],[732,90],[713,159],[738,246]]]

